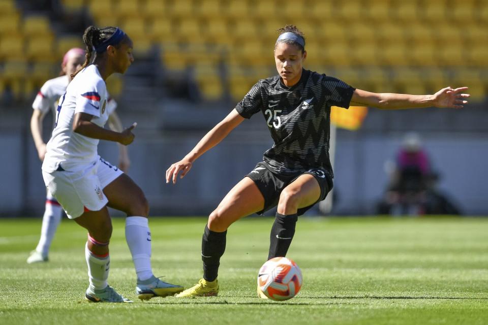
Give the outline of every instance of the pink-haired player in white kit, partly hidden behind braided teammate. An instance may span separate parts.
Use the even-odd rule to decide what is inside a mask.
[[[71,80],[71,75],[83,64],[85,51],[80,48],[72,48],[63,57],[61,64],[62,76],[50,79],[44,83],[41,90],[38,92],[34,103],[32,104],[33,113],[31,117],[31,133],[36,145],[37,153],[41,161],[44,160],[46,154],[46,144],[42,138],[42,123],[46,114],[51,111],[52,116],[56,116],[57,100],[62,96],[68,83]],[[109,114],[108,124],[113,131],[121,132],[123,130],[120,119],[115,112],[117,103],[115,100],[109,98],[107,102],[107,111]],[[53,118],[54,124],[54,118]],[[127,147],[119,145],[119,163],[118,167],[127,172],[130,160],[127,152]],[[42,217],[41,238],[35,250],[31,252],[27,258],[27,263],[42,263],[49,259],[49,248],[51,246],[57,226],[61,221],[63,209],[51,195],[49,191],[46,194],[45,210]]]

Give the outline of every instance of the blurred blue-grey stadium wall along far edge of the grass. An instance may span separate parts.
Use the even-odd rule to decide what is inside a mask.
[[[165,171],[183,157],[204,132],[178,133],[164,137],[138,136],[129,148],[132,167],[129,175],[141,186],[153,215],[206,215],[225,193],[261,160],[270,146],[265,133],[252,138],[236,130],[220,145],[207,152],[183,180],[165,183]],[[488,215],[488,135],[463,133],[421,134],[434,169],[441,173],[440,188],[466,215]],[[0,133],[0,160],[3,186],[0,188],[0,215],[40,215],[45,188],[41,163],[31,137],[22,133]],[[337,202],[334,214],[370,214],[388,182],[384,163],[393,159],[403,133],[379,136],[370,132],[339,131],[335,160]],[[25,140],[27,139],[27,140]],[[27,148],[23,142],[27,141]],[[27,149],[27,150],[25,150]],[[101,142],[102,157],[117,163],[117,147]],[[25,155],[25,156],[24,156]],[[310,212],[318,213],[317,210]]]

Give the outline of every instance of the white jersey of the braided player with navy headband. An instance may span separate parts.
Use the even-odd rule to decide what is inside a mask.
[[[103,127],[108,120],[107,89],[105,81],[93,64],[80,71],[59,99],[56,122],[42,170],[51,173],[59,168],[78,171],[99,160],[99,139],[73,132],[76,113],[93,115],[92,123]]]

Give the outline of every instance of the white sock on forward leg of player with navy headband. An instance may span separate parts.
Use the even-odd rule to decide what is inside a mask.
[[[132,254],[138,280],[153,276],[151,268],[151,232],[148,220],[144,217],[126,218],[126,241]]]

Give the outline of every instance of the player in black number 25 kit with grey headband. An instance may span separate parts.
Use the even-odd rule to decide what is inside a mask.
[[[349,105],[380,109],[421,107],[462,108],[467,87],[443,88],[433,95],[373,93],[303,69],[307,58],[303,34],[296,26],[278,30],[275,43],[277,76],[259,80],[220,123],[183,159],[166,171],[166,182],[176,182],[194,161],[217,145],[243,120],[261,112],[274,140],[263,161],[238,182],[210,213],[202,238],[203,278],[176,297],[217,296],[217,273],[224,254],[227,228],[247,215],[278,205],[271,228],[268,259],[285,256],[299,215],[323,200],[332,188],[329,161],[330,107]],[[258,295],[265,298],[258,290]]]

